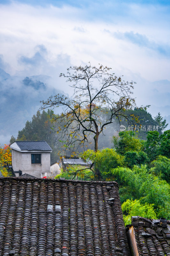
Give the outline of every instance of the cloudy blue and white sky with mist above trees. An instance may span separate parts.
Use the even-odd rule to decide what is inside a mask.
[[[135,81],[137,105],[170,123],[169,0],[0,0],[0,144],[17,136],[40,100],[71,96],[59,74],[89,61]]]

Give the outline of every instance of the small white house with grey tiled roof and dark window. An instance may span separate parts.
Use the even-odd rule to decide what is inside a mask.
[[[50,175],[50,153],[46,141],[15,141],[12,149],[12,169],[16,176],[27,173],[37,178]]]

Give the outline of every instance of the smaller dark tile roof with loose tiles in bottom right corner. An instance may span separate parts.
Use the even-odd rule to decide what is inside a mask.
[[[132,216],[131,219],[128,235],[130,238],[130,234],[134,234],[139,256],[170,255],[170,220],[153,220],[139,216]]]

